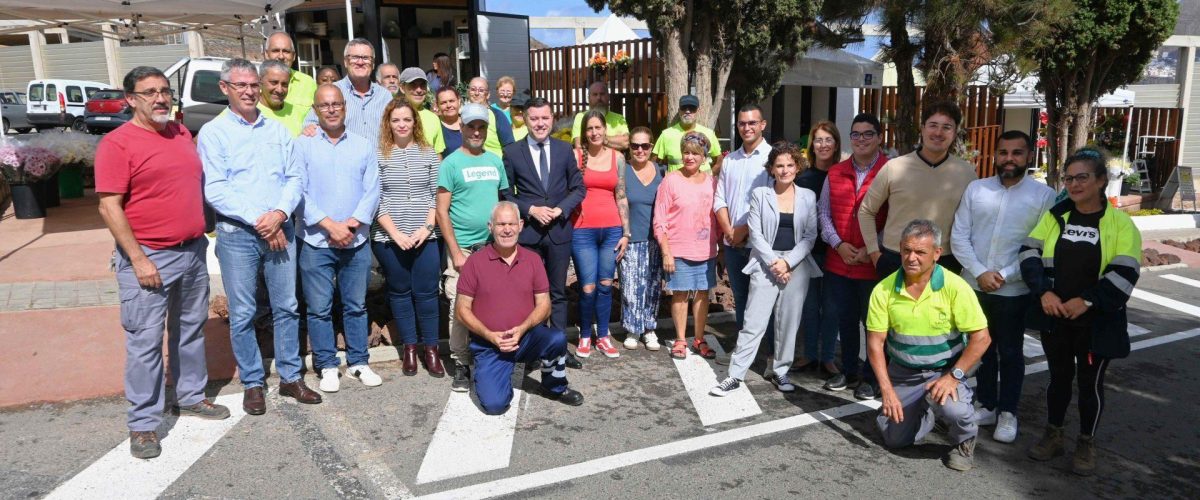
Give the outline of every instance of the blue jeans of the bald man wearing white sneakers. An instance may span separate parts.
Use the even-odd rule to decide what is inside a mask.
[[[334,333],[334,290],[341,293],[342,329],[346,337],[346,366],[367,363],[367,281],[371,278],[371,251],[366,245],[353,248],[320,248],[304,243],[300,252],[304,276],[304,300],[308,307],[308,342],[312,343],[312,367],[317,371],[337,368],[337,342]],[[336,279],[336,283],[335,283]]]

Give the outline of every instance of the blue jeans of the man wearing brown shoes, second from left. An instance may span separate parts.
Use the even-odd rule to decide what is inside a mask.
[[[283,382],[300,379],[300,315],[296,313],[296,242],[292,221],[282,225],[288,247],[271,251],[254,227],[226,217],[217,222],[217,260],[229,299],[229,342],[238,360],[238,378],[246,388],[262,387],[263,354],[254,333],[254,297],[263,272],[275,321],[275,369]]]

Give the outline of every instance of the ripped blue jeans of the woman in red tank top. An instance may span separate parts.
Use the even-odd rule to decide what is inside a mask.
[[[576,228],[571,236],[571,259],[575,260],[575,277],[580,284],[580,338],[592,337],[595,325],[596,338],[608,336],[608,317],[612,314],[612,277],[617,273],[617,243],[620,227]],[[608,282],[604,284],[602,282]],[[595,287],[587,291],[586,287]]]

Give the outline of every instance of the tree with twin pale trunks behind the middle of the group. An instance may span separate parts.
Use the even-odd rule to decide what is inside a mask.
[[[817,23],[821,0],[587,0],[598,12],[646,22],[666,66],[667,112],[696,88],[712,127],[726,90],[750,102],[770,96],[784,72],[814,40],[838,43],[842,32]],[[736,78],[731,78],[737,74]]]

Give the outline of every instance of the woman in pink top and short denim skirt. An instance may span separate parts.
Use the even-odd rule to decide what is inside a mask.
[[[696,354],[713,359],[716,353],[704,342],[708,319],[708,289],[716,284],[716,218],[713,197],[716,179],[700,171],[708,152],[708,138],[689,132],[679,143],[683,168],[662,179],[654,201],[654,237],[662,248],[662,270],[671,290],[671,319],[676,341],[671,357],[688,356],[688,300],[695,320]]]

